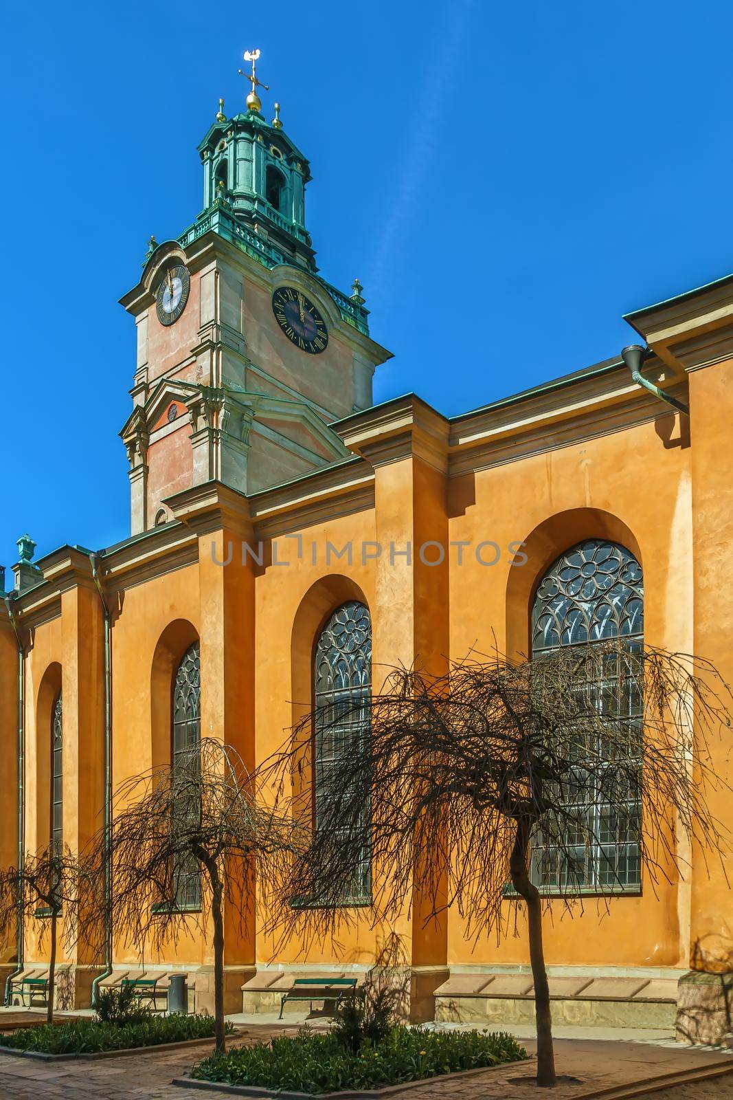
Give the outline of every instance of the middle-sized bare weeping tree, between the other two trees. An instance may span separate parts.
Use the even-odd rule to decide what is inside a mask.
[[[230,746],[204,738],[116,791],[110,828],[114,927],[141,952],[213,927],[216,1048],[224,1049],[224,910],[244,926],[296,850],[291,818],[264,809]],[[93,858],[102,866],[100,833]]]

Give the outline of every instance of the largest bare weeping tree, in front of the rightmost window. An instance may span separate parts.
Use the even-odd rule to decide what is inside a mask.
[[[419,897],[426,921],[454,905],[476,939],[506,930],[512,909],[517,933],[523,904],[537,1084],[555,1084],[548,894],[573,908],[589,877],[610,893],[641,882],[642,869],[654,886],[684,873],[693,842],[723,858],[708,794],[728,790],[710,743],[730,744],[730,698],[709,662],[623,640],[522,662],[473,654],[434,679],[396,669],[371,700],[336,697],[263,772],[310,825],[319,749],[316,827],[291,867],[284,934],[334,935],[353,920],[345,900],[364,882],[365,854],[375,922]]]

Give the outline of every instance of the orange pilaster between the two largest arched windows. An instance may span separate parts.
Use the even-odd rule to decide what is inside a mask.
[[[447,421],[415,397],[349,417],[340,431],[375,471],[377,557],[374,669],[446,669],[448,634]],[[375,680],[375,691],[381,684]],[[410,1016],[432,1019],[445,980],[447,925],[430,916],[415,868],[412,912],[395,931],[410,968]]]

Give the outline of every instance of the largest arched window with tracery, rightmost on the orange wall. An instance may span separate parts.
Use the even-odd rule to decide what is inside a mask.
[[[624,547],[602,539],[587,539],[567,550],[542,579],[532,610],[532,656],[542,657],[560,646],[591,645],[623,638],[632,651],[644,638],[644,584],[642,568]],[[617,668],[603,667],[592,684],[599,708],[622,707],[638,718],[642,700],[635,685]],[[603,710],[602,713],[608,713]],[[548,891],[568,889],[591,893],[637,890],[641,884],[638,815],[641,806],[630,791],[624,805],[604,805],[578,768],[577,789],[588,827],[574,837],[571,866],[563,865],[556,848],[535,844],[533,879]]]

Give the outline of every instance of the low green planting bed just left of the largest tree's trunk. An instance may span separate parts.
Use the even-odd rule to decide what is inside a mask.
[[[366,1040],[354,1052],[333,1032],[316,1035],[302,1028],[296,1036],[214,1053],[193,1067],[191,1077],[318,1093],[401,1085],[522,1058],[524,1048],[502,1032],[433,1032],[399,1025],[380,1042]]]

